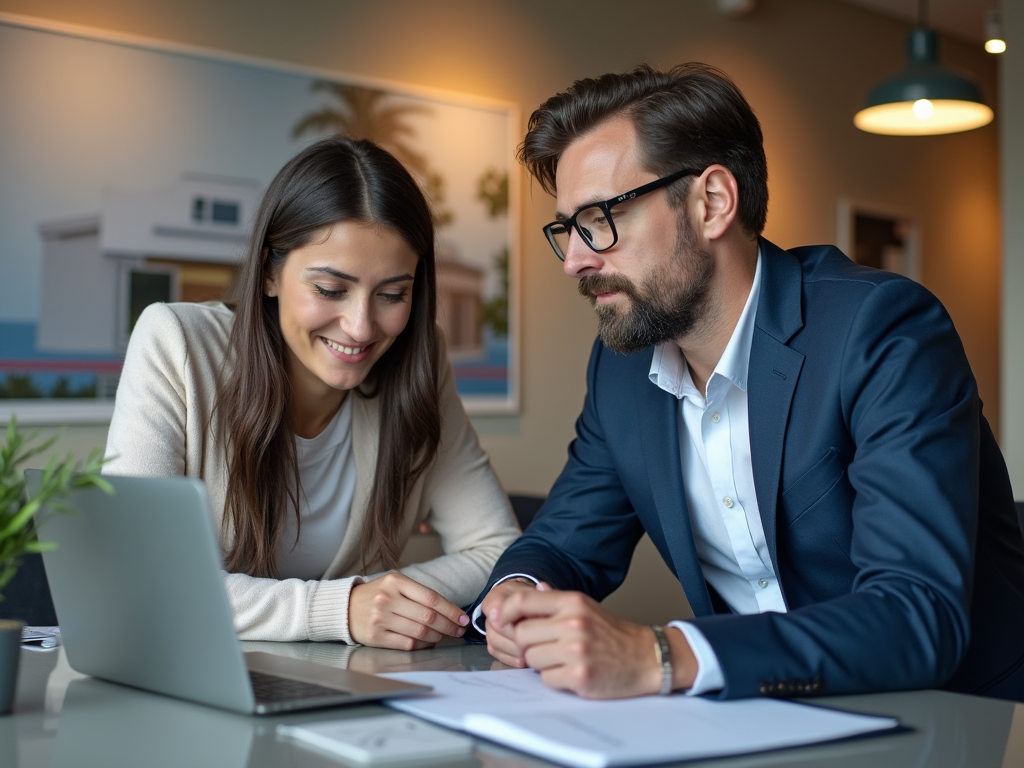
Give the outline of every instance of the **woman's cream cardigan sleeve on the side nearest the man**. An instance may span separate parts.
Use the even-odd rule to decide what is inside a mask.
[[[401,572],[465,606],[519,536],[519,526],[466,416],[446,356],[441,366],[441,439],[424,479],[421,505],[430,510],[427,519],[440,537],[444,554]]]

